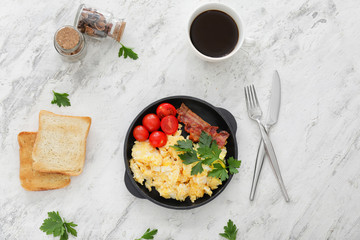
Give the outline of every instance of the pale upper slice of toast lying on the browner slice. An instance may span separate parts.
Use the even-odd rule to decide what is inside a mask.
[[[85,163],[90,117],[57,115],[40,111],[39,131],[32,157],[39,172],[77,176]]]

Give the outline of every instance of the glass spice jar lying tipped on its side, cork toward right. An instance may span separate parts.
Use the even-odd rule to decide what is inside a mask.
[[[107,11],[100,11],[85,4],[79,6],[74,22],[74,26],[82,33],[98,39],[109,36],[118,42],[124,33],[125,25],[124,19],[114,18]]]

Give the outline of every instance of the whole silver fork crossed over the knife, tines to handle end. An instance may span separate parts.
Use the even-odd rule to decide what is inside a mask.
[[[271,164],[274,166],[275,174],[280,183],[281,191],[285,197],[285,201],[288,202],[290,199],[287,194],[287,191],[286,191],[286,188],[284,185],[284,181],[281,177],[280,168],[279,168],[279,164],[276,159],[276,154],[275,154],[274,148],[272,146],[272,143],[270,141],[270,138],[266,132],[264,125],[260,121],[261,116],[262,116],[262,111],[261,111],[261,108],[259,106],[259,101],[256,96],[255,87],[254,87],[254,85],[247,86],[244,88],[244,90],[245,90],[245,99],[246,99],[246,107],[248,110],[248,115],[251,119],[255,120],[259,125],[261,137],[264,141],[266,152],[269,155]]]

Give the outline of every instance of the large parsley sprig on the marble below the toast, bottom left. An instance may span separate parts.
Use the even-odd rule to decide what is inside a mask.
[[[47,235],[53,234],[54,237],[60,236],[60,240],[67,240],[68,233],[77,237],[77,231],[74,229],[77,225],[73,222],[62,220],[59,212],[48,212],[49,218],[45,219],[40,230]]]

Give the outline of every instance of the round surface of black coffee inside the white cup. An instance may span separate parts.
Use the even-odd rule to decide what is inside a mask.
[[[190,28],[190,38],[202,54],[223,57],[234,50],[239,40],[239,29],[228,14],[209,10],[194,19]]]

